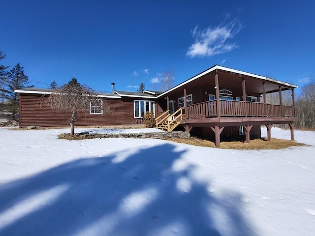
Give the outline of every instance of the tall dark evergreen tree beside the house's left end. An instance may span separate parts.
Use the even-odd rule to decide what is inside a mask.
[[[7,110],[12,114],[13,120],[19,112],[19,97],[14,90],[33,87],[28,86],[28,84],[29,77],[24,74],[24,67],[17,63],[7,73],[7,89],[5,90],[6,97],[9,99]]]

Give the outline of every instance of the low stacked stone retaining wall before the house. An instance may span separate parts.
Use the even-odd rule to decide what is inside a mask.
[[[164,139],[164,138],[190,138],[189,132],[182,131],[166,131],[157,133],[137,133],[137,134],[75,134],[82,138],[131,138],[131,139]]]

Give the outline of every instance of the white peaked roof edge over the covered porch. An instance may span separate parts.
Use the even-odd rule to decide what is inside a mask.
[[[164,96],[166,93],[168,92],[171,92],[175,89],[178,89],[180,87],[182,87],[183,85],[186,85],[188,83],[190,83],[191,81],[194,81],[198,78],[200,78],[201,76],[205,75],[205,74],[208,74],[214,70],[225,70],[225,71],[229,71],[229,72],[234,72],[234,73],[238,73],[238,74],[242,74],[242,75],[247,75],[247,76],[251,76],[251,77],[255,77],[255,78],[258,78],[258,79],[262,79],[262,80],[267,80],[267,81],[270,81],[270,82],[275,82],[275,83],[278,83],[278,84],[283,84],[283,85],[286,85],[286,86],[290,86],[290,87],[293,87],[293,88],[298,88],[298,86],[296,85],[292,85],[292,84],[289,84],[289,83],[286,83],[286,82],[282,82],[282,81],[279,81],[279,80],[275,80],[275,79],[271,79],[271,78],[268,78],[268,77],[265,77],[265,76],[261,76],[261,75],[255,75],[255,74],[252,74],[252,73],[249,73],[249,72],[245,72],[245,71],[241,71],[241,70],[236,70],[236,69],[231,69],[231,68],[228,68],[228,67],[224,67],[224,66],[221,66],[221,65],[215,65],[211,68],[209,68],[208,70],[205,70],[204,72],[190,78],[189,80],[173,87],[172,89],[168,89],[167,91],[161,93],[160,95],[157,96],[157,98],[160,98],[162,96]]]

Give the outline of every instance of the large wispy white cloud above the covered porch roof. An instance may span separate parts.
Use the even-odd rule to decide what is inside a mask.
[[[195,42],[189,47],[186,55],[194,57],[211,57],[217,54],[229,52],[238,46],[235,43],[227,42],[243,28],[237,20],[215,28],[198,29],[196,26],[192,31]]]

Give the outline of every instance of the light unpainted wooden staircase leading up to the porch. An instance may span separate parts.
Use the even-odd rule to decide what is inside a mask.
[[[169,110],[167,110],[158,118],[156,118],[157,128],[166,131],[172,131],[181,123],[182,119],[183,119],[182,108],[178,109],[173,114],[170,114]]]

